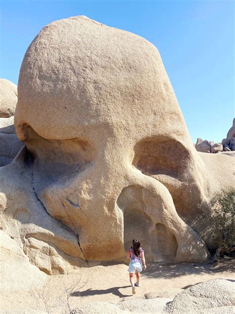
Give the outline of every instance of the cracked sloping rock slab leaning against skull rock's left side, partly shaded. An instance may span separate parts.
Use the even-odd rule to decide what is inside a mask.
[[[47,274],[87,266],[77,235],[48,215],[37,199],[29,161],[22,161],[24,151],[0,168],[0,229],[14,238],[32,265]]]

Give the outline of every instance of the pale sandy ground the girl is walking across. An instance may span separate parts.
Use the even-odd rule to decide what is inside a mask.
[[[122,298],[144,298],[146,293],[185,288],[215,278],[235,280],[235,261],[224,260],[214,265],[149,264],[142,272],[141,287],[136,288],[134,296],[131,294],[127,265],[82,268],[67,275],[48,276],[44,287],[34,291],[3,293],[0,313],[64,314],[69,313],[67,304],[74,309],[94,301],[118,303]],[[70,294],[68,302],[67,289]]]

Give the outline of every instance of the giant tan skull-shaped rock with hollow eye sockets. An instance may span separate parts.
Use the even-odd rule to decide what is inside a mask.
[[[208,258],[186,224],[205,168],[147,40],[83,16],[44,27],[21,66],[15,127],[37,198],[87,260],[120,259],[134,237],[149,260]]]

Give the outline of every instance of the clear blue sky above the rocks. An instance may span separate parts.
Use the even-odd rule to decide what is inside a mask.
[[[18,81],[24,53],[44,25],[86,15],[159,50],[189,133],[221,142],[235,116],[233,0],[0,0],[0,77]]]

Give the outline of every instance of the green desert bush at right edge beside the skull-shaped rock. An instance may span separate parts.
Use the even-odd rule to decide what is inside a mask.
[[[218,253],[235,250],[235,189],[222,190],[212,200],[214,232],[219,236]]]

